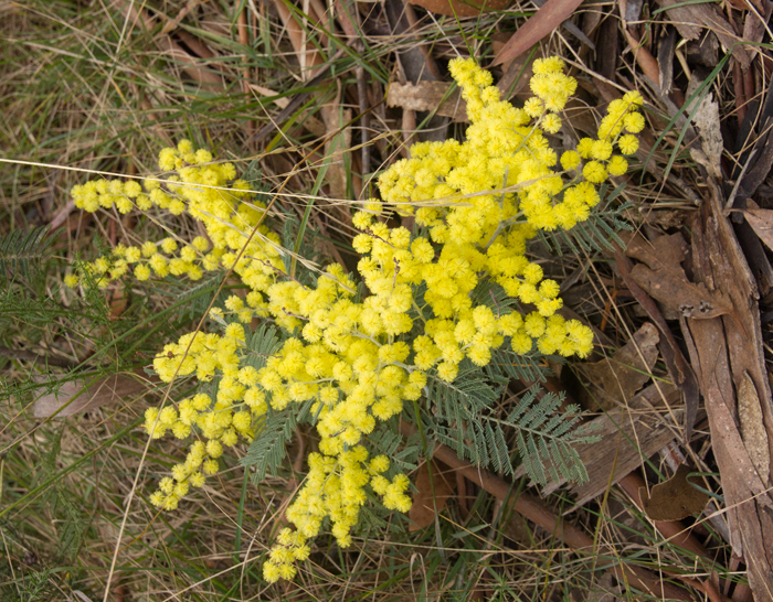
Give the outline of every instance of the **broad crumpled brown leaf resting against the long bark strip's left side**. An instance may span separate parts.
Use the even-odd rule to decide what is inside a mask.
[[[733,305],[721,291],[711,291],[703,283],[687,279],[681,262],[687,245],[681,234],[661,236],[652,244],[640,236],[631,236],[625,254],[644,261],[631,270],[636,283],[667,309],[686,318],[717,318],[730,314]]]

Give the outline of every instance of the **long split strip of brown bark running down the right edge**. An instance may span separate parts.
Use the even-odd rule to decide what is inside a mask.
[[[773,499],[754,467],[738,427],[737,384],[744,373],[754,381],[767,439],[773,437],[771,390],[760,326],[754,275],[724,214],[721,182],[706,179],[703,204],[690,225],[696,281],[732,299],[731,318],[692,320],[682,325],[695,341],[700,388],[711,429],[711,449],[719,467],[733,553],[744,556],[755,596],[773,591]]]

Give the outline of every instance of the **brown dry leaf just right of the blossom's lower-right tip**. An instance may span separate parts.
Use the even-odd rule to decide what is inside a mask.
[[[649,380],[659,341],[657,329],[647,322],[613,358],[583,365],[581,369],[595,389],[589,400],[605,410],[627,402]]]

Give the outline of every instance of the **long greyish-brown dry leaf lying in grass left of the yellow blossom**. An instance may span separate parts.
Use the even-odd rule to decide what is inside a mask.
[[[83,390],[86,385],[85,380],[70,380],[59,391],[42,395],[32,404],[32,415],[35,418],[65,418],[120,401],[148,388],[147,381],[127,374],[106,376]]]

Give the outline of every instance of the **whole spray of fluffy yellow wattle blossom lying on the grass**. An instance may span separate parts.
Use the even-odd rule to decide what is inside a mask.
[[[177,507],[191,486],[216,472],[224,447],[260,436],[269,407],[311,404],[319,453],[309,455],[309,474],[287,510],[295,529],[279,534],[264,565],[269,582],[295,574],[295,562],[308,557],[309,540],[328,522],[338,542],[348,546],[367,487],[388,508],[410,507],[407,477],[386,476],[390,461],[370,458],[366,444],[379,422],[421,398],[428,379],[453,381],[463,361],[485,366],[493,350],[505,345],[516,354],[580,357],[592,348],[591,330],[557,313],[559,286],[529,261],[526,246],[538,230],[569,229],[586,219],[600,201],[595,185],[625,171],[625,160],[613,150],[636,151],[640,96],[613,103],[599,138],[581,140],[559,160],[546,133],[561,128],[558,112],[576,88],[560,60],[534,63],[534,97],[523,109],[500,100],[490,74],[474,61],[453,61],[451,72],[467,101],[466,141],[414,144],[410,160],[379,179],[382,201],[369,201],[353,216],[360,233],[353,247],[362,256],[358,271],[369,291],[361,301],[339,265],[328,266],[315,287],[286,273],[277,236],[261,225],[264,205],[251,201],[231,163],[214,162],[188,141],[161,152],[159,166],[174,172],[163,180],[142,186],[98,181],[73,190],[86,211],[184,211],[207,233],[182,248],[171,238],[117,247],[85,266],[82,277],[107,286],[129,269],[139,280],[169,273],[195,280],[205,270],[226,268],[246,289],[244,298],[233,295],[211,312],[222,334],[187,334],[153,362],[166,383],[219,377],[214,398],[199,393],[176,407],[147,411],[151,437],[169,431],[200,438],[160,482],[153,504]],[[564,172],[557,171],[559,162]],[[386,211],[415,215],[419,232],[389,227]],[[517,302],[506,310],[496,300],[476,302],[475,290],[486,282]],[[77,277],[68,283],[75,286]],[[287,333],[278,352],[260,362],[242,325],[255,318]]]

